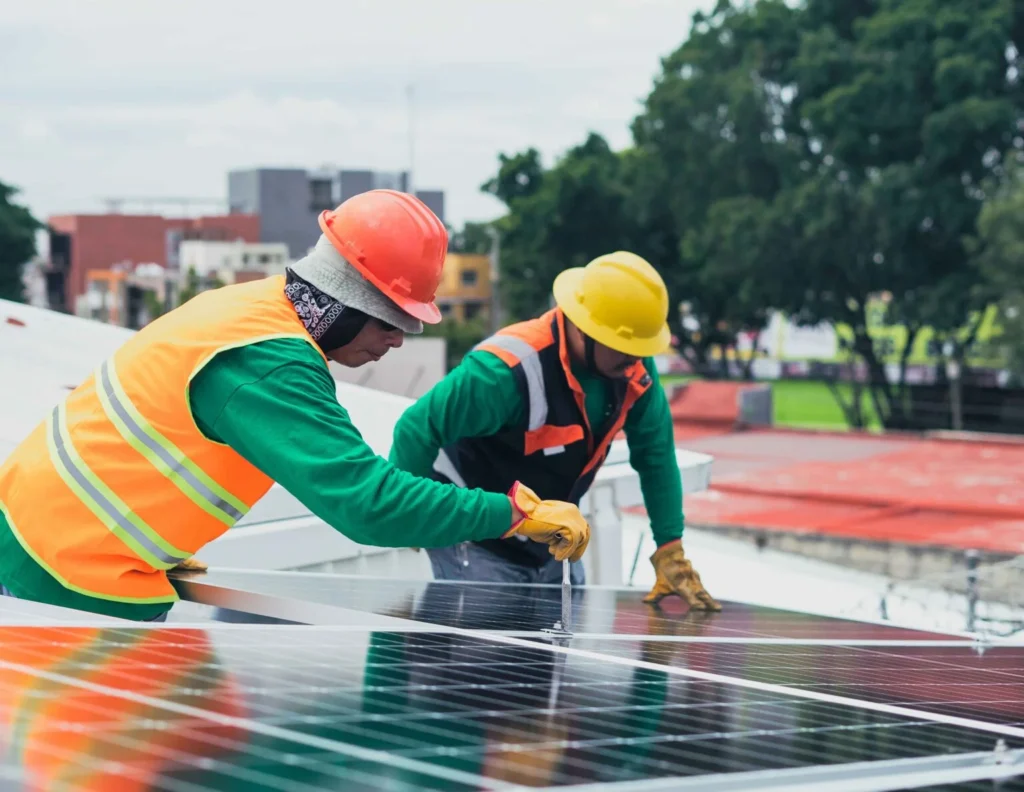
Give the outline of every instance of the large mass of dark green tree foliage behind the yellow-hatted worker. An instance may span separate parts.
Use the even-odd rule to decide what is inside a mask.
[[[1024,149],[1024,5],[721,0],[693,23],[630,149],[591,135],[550,168],[532,149],[501,158],[484,190],[508,207],[507,307],[534,316],[562,268],[632,249],[663,274],[699,370],[770,309],[842,324],[883,423],[912,426],[913,339],[934,328],[963,360],[991,298],[969,240],[1000,153]],[[896,381],[868,332],[883,292],[909,339]]]

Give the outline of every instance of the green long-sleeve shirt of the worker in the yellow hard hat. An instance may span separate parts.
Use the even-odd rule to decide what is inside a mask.
[[[669,400],[654,362],[645,359],[644,366],[653,381],[624,428],[654,541],[662,545],[683,535],[683,487]],[[572,373],[584,389],[591,426],[600,425],[610,408],[605,381],[580,366]],[[428,475],[441,448],[519,425],[525,410],[512,370],[490,352],[472,351],[401,416],[390,459],[403,470]]]

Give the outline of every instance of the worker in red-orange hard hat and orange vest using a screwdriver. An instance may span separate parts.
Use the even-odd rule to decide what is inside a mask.
[[[568,503],[459,490],[398,470],[339,405],[328,361],[380,360],[437,323],[447,250],[418,199],[372,191],[319,215],[286,274],[204,292],[136,333],[0,466],[0,593],[164,620],[167,571],[278,482],[368,545],[522,536],[579,559]],[[239,559],[244,564],[245,559]]]

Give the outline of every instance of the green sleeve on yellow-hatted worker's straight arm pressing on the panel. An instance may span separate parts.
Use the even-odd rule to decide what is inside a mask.
[[[644,360],[650,387],[626,418],[630,464],[640,474],[640,491],[650,517],[654,541],[660,547],[683,535],[683,484],[676,460],[676,437],[669,400],[654,361]]]

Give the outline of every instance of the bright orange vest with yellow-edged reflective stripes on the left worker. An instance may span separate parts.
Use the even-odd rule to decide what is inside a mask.
[[[173,602],[166,570],[238,522],[272,485],[207,439],[193,378],[226,349],[308,341],[275,276],[199,294],[147,325],[73,390],[0,466],[0,511],[63,586]]]

